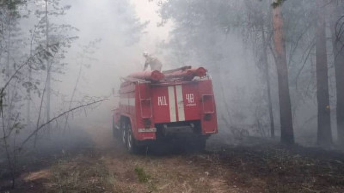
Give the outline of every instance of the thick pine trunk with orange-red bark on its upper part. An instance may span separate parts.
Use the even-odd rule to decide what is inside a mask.
[[[275,2],[273,0],[273,2]],[[272,9],[273,44],[276,52],[276,68],[278,79],[278,98],[281,114],[281,142],[292,145],[294,140],[293,117],[289,94],[288,66],[284,44],[283,17],[281,6]]]

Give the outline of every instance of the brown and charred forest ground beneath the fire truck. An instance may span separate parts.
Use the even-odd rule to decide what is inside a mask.
[[[341,152],[215,137],[204,152],[130,155],[109,128],[87,132],[92,145],[21,169],[5,192],[344,192]]]

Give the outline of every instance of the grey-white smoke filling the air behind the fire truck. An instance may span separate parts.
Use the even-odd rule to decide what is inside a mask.
[[[209,69],[209,74],[213,78],[221,134],[233,134],[233,128],[241,128],[247,130],[249,135],[269,136],[267,88],[262,70],[263,62],[259,53],[261,50],[256,49],[256,52],[254,51],[255,48],[261,47],[261,42],[258,42],[261,36],[252,32],[254,31],[252,29],[256,27],[254,22],[259,19],[258,16],[260,15],[256,15],[257,19],[254,17],[255,15],[249,13],[251,10],[257,13],[264,6],[269,10],[270,3],[230,1],[226,7],[221,6],[223,1],[212,3],[195,1],[204,3],[201,6],[202,9],[191,9],[196,11],[198,16],[195,19],[197,31],[195,26],[184,25],[183,19],[185,18],[181,18],[185,16],[183,13],[189,13],[189,6],[184,6],[187,2],[169,2],[175,6],[172,10],[174,12],[170,13],[170,16],[164,15],[165,9],[169,7],[161,7],[155,1],[62,0],[60,2],[71,5],[71,8],[63,16],[51,16],[50,22],[75,27],[77,30],[73,30],[68,35],[78,38],[72,42],[62,60],[63,63],[67,64],[61,69],[63,73],[53,73],[52,75],[52,117],[91,99],[109,98],[109,100],[69,113],[67,129],[64,129],[65,117],[54,122],[53,126],[56,131],[53,131],[52,134],[54,132],[61,134],[61,137],[53,139],[56,141],[54,144],[64,143],[66,138],[63,135],[66,134],[65,132],[70,134],[67,137],[69,141],[73,141],[73,139],[79,141],[77,138],[80,141],[84,139],[89,141],[86,136],[91,136],[90,138],[93,140],[92,136],[97,135],[97,129],[111,130],[111,110],[118,103],[118,98],[111,94],[111,90],[114,89],[116,92],[119,90],[120,77],[126,77],[129,73],[140,71],[143,68],[143,51],[158,56],[162,60],[163,70],[184,65],[204,66]],[[286,1],[283,4],[283,11],[293,15],[295,7],[298,7],[297,3],[298,1]],[[208,6],[204,7],[203,5]],[[303,5],[300,9],[307,10],[308,7],[310,5]],[[223,18],[220,18],[219,23],[215,22],[212,9],[218,10],[219,14],[216,16],[222,15]],[[268,14],[268,11],[265,13]],[[262,16],[265,19],[266,17],[266,15]],[[163,19],[166,19],[167,22],[161,22]],[[286,25],[295,25],[295,28],[301,29],[302,23],[294,24],[294,20],[290,16],[290,19],[286,19]],[[308,22],[306,19],[304,20],[302,22]],[[233,21],[234,23],[230,23]],[[254,23],[252,24],[253,27],[247,27],[246,22],[249,25],[251,21]],[[38,22],[36,18],[21,20],[20,26],[27,37],[30,36],[29,30],[32,30]],[[226,22],[229,22],[230,26],[234,26],[233,29],[223,25]],[[269,22],[266,20],[265,25],[267,27],[270,25]],[[301,33],[299,31],[302,32],[302,30],[298,30],[298,33],[295,33]],[[267,37],[269,35],[267,32]],[[295,49],[294,55],[288,55],[291,69],[300,69],[300,64],[303,64],[305,60],[303,57],[304,48],[308,47],[308,40],[311,35],[312,33],[307,33],[305,36],[301,36],[302,41],[298,47],[300,49]],[[295,41],[298,37],[291,32],[287,33],[286,36],[290,42]],[[97,41],[92,48],[85,52],[85,46],[98,39],[100,41]],[[288,44],[288,46],[295,45]],[[83,54],[87,57],[82,57]],[[311,55],[311,57],[313,56]],[[276,67],[269,49],[267,60],[271,83],[272,111],[276,133],[279,135],[280,115]],[[308,65],[304,69],[307,76],[300,76],[301,80],[299,81],[301,82],[301,90],[309,90],[300,93],[293,86],[295,85],[294,80],[290,81],[294,124],[295,128],[300,129],[296,132],[296,136],[300,138],[313,136],[316,126],[316,118],[313,118],[314,111],[316,111],[314,88],[312,87],[314,77],[309,75],[314,72],[314,69],[309,65],[312,64],[311,60],[305,64]],[[81,70],[80,66],[82,66]],[[295,66],[296,68],[294,68]],[[294,79],[296,74],[297,70],[290,70],[291,79]],[[45,80],[44,73],[36,76],[37,79]],[[74,91],[76,84],[77,87]],[[40,87],[43,85],[41,84]],[[73,99],[72,95],[74,96]],[[43,104],[45,105],[45,103]],[[39,111],[40,99],[33,99],[32,106],[32,114],[36,115]],[[44,120],[44,109],[42,114],[42,120]],[[34,118],[31,122],[36,124]],[[43,137],[40,140],[45,144],[50,143],[51,138],[48,136],[48,138]]]

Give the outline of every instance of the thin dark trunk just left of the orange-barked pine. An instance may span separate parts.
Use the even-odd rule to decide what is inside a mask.
[[[269,117],[270,117],[270,135],[271,138],[275,138],[275,123],[273,121],[273,114],[272,114],[272,102],[271,102],[271,87],[270,87],[270,76],[269,76],[269,64],[267,59],[267,45],[265,39],[265,29],[264,23],[261,25],[261,33],[262,33],[262,43],[263,43],[263,62],[264,62],[264,72],[265,72],[265,82],[267,87],[267,94],[268,94],[268,107],[269,107]]]

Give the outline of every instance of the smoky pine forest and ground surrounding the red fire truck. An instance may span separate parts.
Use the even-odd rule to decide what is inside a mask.
[[[343,0],[0,0],[0,21],[0,191],[344,191]],[[146,51],[208,70],[204,151],[112,138]]]

